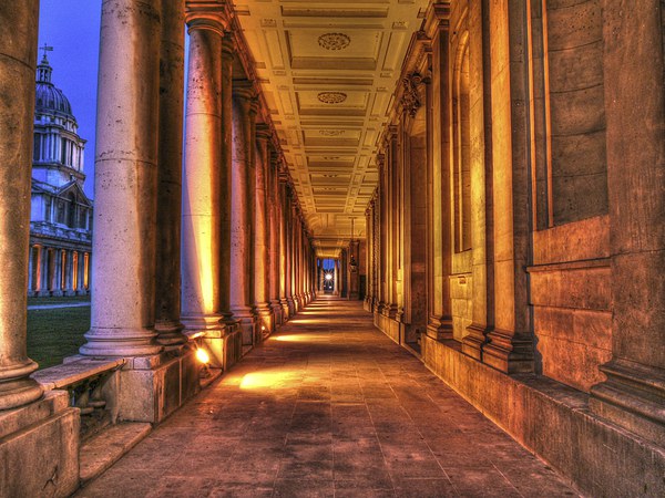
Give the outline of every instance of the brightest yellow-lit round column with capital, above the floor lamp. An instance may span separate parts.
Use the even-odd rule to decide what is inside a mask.
[[[190,32],[182,207],[182,322],[187,330],[219,330],[223,203],[221,54],[225,20],[187,11]]]

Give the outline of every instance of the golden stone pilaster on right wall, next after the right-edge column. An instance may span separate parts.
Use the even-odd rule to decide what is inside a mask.
[[[529,278],[524,271],[531,259],[531,215],[524,209],[531,203],[529,95],[523,90],[529,73],[525,1],[507,3],[508,22],[492,22],[489,33],[491,39],[509,41],[509,50],[498,51],[490,69],[508,68],[509,77],[491,74],[495,320],[487,334],[482,361],[507,373],[532,372],[534,366]],[[489,13],[501,18],[503,8],[497,9]]]

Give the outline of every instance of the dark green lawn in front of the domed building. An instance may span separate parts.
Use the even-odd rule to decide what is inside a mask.
[[[57,304],[61,298],[35,298],[43,302],[29,304]],[[62,298],[64,302],[90,300],[90,298]],[[60,301],[63,302],[63,301]],[[28,356],[40,369],[62,363],[62,359],[79,352],[90,329],[90,307],[58,308],[53,310],[28,310]]]

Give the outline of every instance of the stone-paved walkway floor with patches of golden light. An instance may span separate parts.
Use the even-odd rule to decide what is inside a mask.
[[[321,298],[81,497],[575,495],[360,303]]]

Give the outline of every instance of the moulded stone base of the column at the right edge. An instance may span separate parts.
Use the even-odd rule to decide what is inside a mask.
[[[618,359],[600,369],[607,380],[591,388],[592,412],[665,446],[665,371]]]

